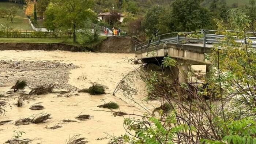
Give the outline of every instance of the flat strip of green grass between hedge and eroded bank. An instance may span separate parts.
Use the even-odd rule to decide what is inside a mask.
[[[27,43],[60,43],[72,42],[72,39],[61,38],[0,38],[0,43],[3,42],[27,42]]]

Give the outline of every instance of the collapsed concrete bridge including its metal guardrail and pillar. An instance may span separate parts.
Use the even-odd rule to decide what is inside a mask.
[[[197,38],[188,37],[193,34],[191,32],[184,33],[169,33],[159,35],[153,41],[150,39],[146,42],[136,45],[136,56],[142,62],[161,61],[163,57],[169,56],[177,60],[177,67],[173,67],[173,76],[180,83],[186,83],[188,77],[189,65],[206,65],[206,72],[209,71],[209,66],[212,65],[206,59],[206,54],[211,52],[214,44],[218,43],[225,35],[212,34],[218,30],[202,30],[196,35]],[[236,32],[236,31],[233,31]],[[252,32],[246,32],[251,33]],[[181,34],[183,36],[181,36]],[[172,35],[172,37],[168,37]],[[248,37],[246,39],[236,39],[237,42],[246,43],[250,39],[252,47],[256,48],[256,37]],[[182,64],[182,65],[180,65]]]

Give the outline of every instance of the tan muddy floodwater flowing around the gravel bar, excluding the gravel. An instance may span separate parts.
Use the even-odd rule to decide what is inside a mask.
[[[91,83],[97,82],[109,87],[106,92],[112,93],[117,83],[122,79],[123,74],[134,70],[138,65],[128,64],[122,58],[134,58],[135,54],[110,54],[110,53],[86,53],[86,52],[66,52],[66,51],[0,51],[0,60],[12,61],[57,61],[66,64],[74,64],[77,69],[72,69],[69,74],[68,84],[77,88],[87,88]],[[1,73],[0,73],[1,74]],[[29,77],[29,76],[27,76]],[[30,77],[33,79],[33,77]],[[0,80],[1,81],[1,80]],[[7,84],[10,85],[10,84]],[[0,87],[0,94],[10,90],[10,86]],[[26,89],[29,91],[29,89]],[[121,96],[121,95],[120,95]],[[17,101],[17,97],[8,98],[12,108],[7,107],[4,116],[0,116],[0,121],[15,120],[28,117],[39,111],[31,111],[29,107],[34,103],[42,102],[45,107],[43,111],[52,114],[52,119],[44,124],[30,124],[15,126],[12,122],[0,126],[0,143],[11,139],[14,135],[13,130],[24,131],[23,139],[34,139],[33,144],[64,144],[69,137],[74,134],[82,134],[90,144],[104,144],[108,139],[97,140],[106,137],[104,132],[114,136],[124,134],[123,117],[114,117],[111,113],[98,108],[103,104],[101,99],[106,102],[117,102],[120,110],[133,113],[136,107],[121,101],[119,98],[106,94],[102,96],[91,96],[80,94],[69,98],[57,97],[57,94],[48,94],[35,98],[35,101],[26,101],[23,107],[12,105]],[[82,114],[90,114],[94,118],[87,121],[76,120],[75,117]],[[77,122],[65,123],[62,120],[76,120]],[[58,129],[46,129],[45,127],[61,125]]]

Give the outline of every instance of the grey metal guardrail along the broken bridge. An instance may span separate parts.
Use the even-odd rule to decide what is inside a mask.
[[[157,38],[155,39],[149,39],[145,42],[139,43],[138,45],[135,46],[135,51],[142,50],[142,49],[147,49],[151,46],[157,46],[161,43],[195,43],[199,42],[202,43],[202,47],[206,47],[206,44],[210,43],[219,43],[219,41],[225,37],[225,35],[217,35],[217,34],[211,34],[215,33],[218,31],[223,31],[223,30],[201,30],[197,32],[175,32],[175,33],[167,33],[167,34],[162,34],[158,35]],[[239,31],[230,31],[229,32],[237,32]],[[202,35],[202,38],[191,38],[191,37],[186,37],[182,36],[187,35],[187,34],[193,34],[193,33],[198,33]],[[256,35],[256,32],[245,32],[246,34],[253,34]],[[172,35],[171,37],[168,37],[168,35]],[[256,37],[246,37],[246,39],[238,39],[236,38],[236,42],[238,43],[245,43],[247,42],[247,39],[250,39],[252,41],[251,45],[253,48],[256,48]]]

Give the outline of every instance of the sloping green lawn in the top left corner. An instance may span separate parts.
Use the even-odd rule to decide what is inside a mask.
[[[14,17],[14,22],[11,23],[10,19],[7,20],[6,18],[0,18],[0,28],[8,25],[15,30],[32,30],[31,26],[29,25],[29,20],[23,11],[23,5],[9,2],[0,2],[0,9],[2,10],[13,6],[18,8],[17,15]]]

